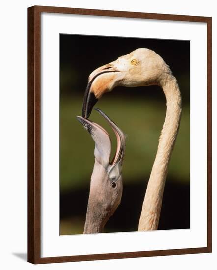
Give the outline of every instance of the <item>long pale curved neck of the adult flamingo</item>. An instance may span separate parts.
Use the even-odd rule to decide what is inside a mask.
[[[161,82],[161,87],[166,96],[166,118],[142,205],[138,231],[158,229],[168,165],[181,118],[182,100],[175,77],[168,74]]]

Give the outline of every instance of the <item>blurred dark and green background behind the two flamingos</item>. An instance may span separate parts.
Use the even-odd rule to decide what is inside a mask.
[[[83,232],[94,165],[94,142],[76,120],[89,74],[137,48],[149,48],[170,66],[180,86],[183,113],[169,165],[159,229],[190,228],[190,41],[60,34],[60,234]],[[136,231],[145,189],[165,119],[158,86],[117,87],[96,104],[127,134],[121,204],[104,232]],[[109,125],[93,110],[116,149]]]

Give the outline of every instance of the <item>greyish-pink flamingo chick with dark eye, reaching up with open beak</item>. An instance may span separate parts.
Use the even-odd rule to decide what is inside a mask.
[[[125,135],[100,109],[95,108],[110,124],[117,138],[116,153],[110,160],[111,140],[108,132],[90,120],[77,116],[95,142],[95,164],[90,181],[84,234],[101,233],[113,215],[122,196],[122,165],[125,154]]]

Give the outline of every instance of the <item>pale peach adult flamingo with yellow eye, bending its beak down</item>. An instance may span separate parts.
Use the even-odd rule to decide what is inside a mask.
[[[150,49],[139,48],[97,68],[90,74],[83,100],[83,118],[89,117],[93,106],[105,92],[118,85],[125,87],[158,85],[166,97],[166,117],[138,224],[138,231],[157,230],[168,165],[181,119],[182,98],[179,86],[160,55]]]

